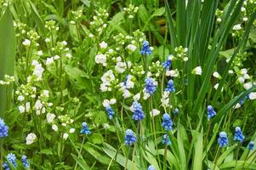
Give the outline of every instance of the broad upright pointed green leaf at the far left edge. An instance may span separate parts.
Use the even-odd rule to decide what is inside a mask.
[[[14,76],[14,56],[14,21],[9,8],[7,8],[3,17],[0,19],[0,80],[3,80],[4,75]],[[7,99],[7,95],[9,96],[9,99]],[[8,111],[8,106],[11,104],[10,87],[6,94],[5,87],[0,85],[0,101],[0,112]]]

